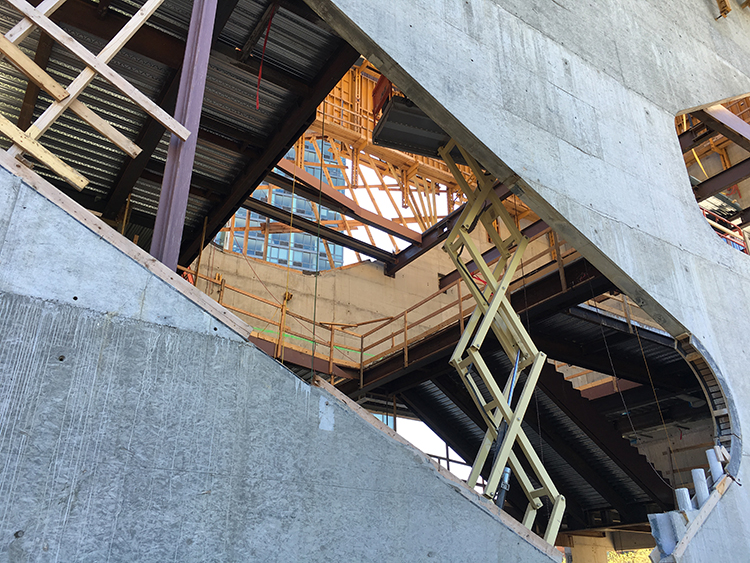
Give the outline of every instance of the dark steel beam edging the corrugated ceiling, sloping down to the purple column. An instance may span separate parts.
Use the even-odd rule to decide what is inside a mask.
[[[317,107],[358,58],[359,53],[348,43],[345,41],[340,43],[338,49],[315,78],[310,95],[294,106],[284,123],[268,140],[261,156],[246,166],[231,186],[224,202],[209,213],[205,240],[212,240],[216,236],[240,204],[250,197],[258,184],[284,157],[289,147],[305,132],[310,120],[315,118]],[[201,233],[198,230],[189,233],[182,246],[180,263],[190,264],[198,255],[200,245]]]

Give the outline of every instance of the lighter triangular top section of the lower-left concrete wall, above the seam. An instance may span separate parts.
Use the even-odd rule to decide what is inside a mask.
[[[4,168],[0,184],[0,291],[240,340],[205,310],[181,308],[179,290]]]

